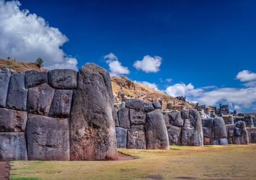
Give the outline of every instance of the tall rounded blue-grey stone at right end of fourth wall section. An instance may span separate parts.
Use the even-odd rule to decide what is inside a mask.
[[[215,139],[227,138],[226,125],[222,117],[215,116],[213,120],[213,133]]]

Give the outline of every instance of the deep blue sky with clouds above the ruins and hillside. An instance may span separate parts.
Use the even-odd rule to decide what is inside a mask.
[[[24,55],[13,53],[11,49],[14,49],[14,45],[11,43],[2,52],[22,60],[35,59],[36,55],[42,54],[46,66],[52,68],[66,68],[70,64],[70,67],[75,67],[77,60],[78,68],[86,62],[95,62],[109,69],[110,62],[118,61],[119,64],[112,65],[116,67],[122,64],[122,67],[126,67],[129,74],[124,75],[132,80],[154,83],[150,86],[157,86],[169,95],[184,95],[191,101],[205,104],[226,102],[231,108],[236,106],[239,111],[256,111],[256,1],[20,3],[20,10],[27,9],[49,24],[48,28],[41,25],[44,30],[40,34],[40,28],[35,28],[37,24],[34,21],[38,21],[38,17],[35,17],[24,21],[23,24],[28,23],[24,29],[30,31],[29,35],[37,34],[34,39],[40,35],[42,39],[48,39],[44,44],[30,44],[30,48],[27,48],[30,51]],[[2,4],[2,7],[7,5]],[[6,8],[7,11],[15,13]],[[16,29],[23,29],[20,26]],[[29,26],[35,28],[36,32]],[[55,27],[59,32],[49,30],[49,27]],[[50,38],[46,35],[49,31]],[[31,40],[24,40],[24,44],[28,42]],[[50,47],[56,51],[44,52],[45,48],[42,47],[47,47],[47,43],[53,44]],[[15,50],[22,50],[15,46]],[[31,52],[33,50],[34,53]],[[115,55],[112,56],[114,59],[104,59],[110,52]],[[56,57],[56,54],[60,56]],[[154,62],[160,61],[160,66],[146,71],[142,61],[136,69],[134,62],[141,61],[145,56],[152,57],[152,61],[147,62],[152,62],[153,66]],[[59,62],[57,59],[61,58]],[[236,78],[242,70],[248,71],[243,71]],[[221,99],[209,101],[217,97]]]

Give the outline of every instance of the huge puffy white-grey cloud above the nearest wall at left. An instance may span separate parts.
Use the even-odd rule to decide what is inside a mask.
[[[43,17],[20,10],[19,1],[0,0],[0,55],[17,60],[44,60],[48,69],[75,69],[77,60],[60,48],[68,38]]]

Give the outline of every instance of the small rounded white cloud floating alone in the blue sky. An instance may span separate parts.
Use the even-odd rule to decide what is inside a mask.
[[[156,73],[159,71],[162,58],[160,56],[144,56],[141,61],[137,60],[134,62],[134,68],[142,70],[145,73]]]

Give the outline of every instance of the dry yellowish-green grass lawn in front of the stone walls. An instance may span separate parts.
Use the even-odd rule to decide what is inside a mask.
[[[256,144],[128,150],[124,161],[12,161],[10,179],[256,179]]]

